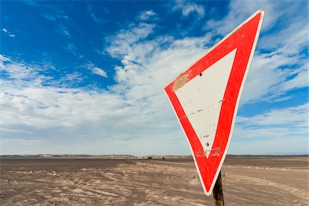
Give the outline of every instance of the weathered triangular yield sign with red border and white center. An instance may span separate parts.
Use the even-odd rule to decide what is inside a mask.
[[[253,14],[165,87],[207,196],[227,155],[263,18],[264,10]]]

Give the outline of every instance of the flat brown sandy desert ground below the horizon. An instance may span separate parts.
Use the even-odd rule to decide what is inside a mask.
[[[308,156],[227,157],[225,205],[309,205]],[[1,159],[0,205],[213,205],[192,159]]]

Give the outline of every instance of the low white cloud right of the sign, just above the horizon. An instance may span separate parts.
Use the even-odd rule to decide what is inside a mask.
[[[238,116],[230,153],[308,154],[308,103]],[[241,149],[242,148],[242,149]]]

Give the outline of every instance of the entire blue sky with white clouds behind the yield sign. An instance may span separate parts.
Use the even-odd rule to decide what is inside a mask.
[[[308,1],[1,1],[0,153],[190,155],[163,88],[260,8],[229,154],[308,154]]]

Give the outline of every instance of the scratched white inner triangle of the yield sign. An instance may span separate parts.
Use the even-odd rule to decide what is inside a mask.
[[[214,144],[223,96],[235,55],[236,49],[175,91],[207,158]]]

